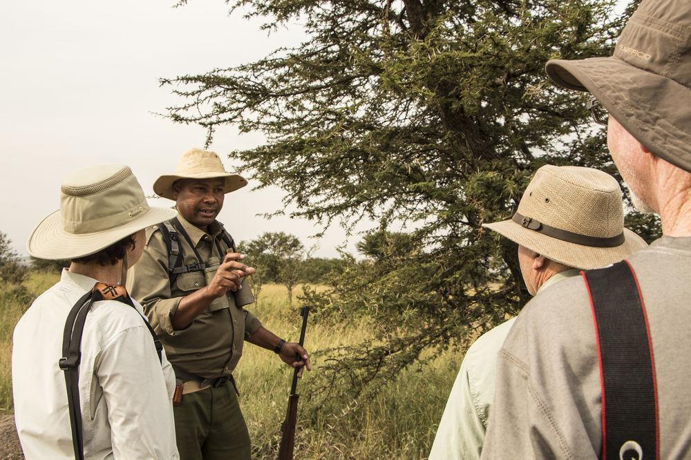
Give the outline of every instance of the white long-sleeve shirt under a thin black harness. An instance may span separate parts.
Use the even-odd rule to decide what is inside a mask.
[[[73,459],[64,372],[65,321],[97,280],[65,270],[15,327],[12,392],[27,459]],[[86,316],[79,396],[87,459],[178,459],[171,399],[175,375],[138,312],[102,300]]]

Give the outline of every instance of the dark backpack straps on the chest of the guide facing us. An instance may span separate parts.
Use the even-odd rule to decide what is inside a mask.
[[[218,222],[218,224],[221,227],[221,239],[223,242],[225,242],[227,247],[235,251],[235,242],[233,241],[233,238],[231,238],[231,236],[225,230],[223,224],[220,222]],[[165,242],[168,250],[168,278],[170,279],[171,286],[178,279],[178,275],[188,273],[190,271],[202,271],[207,268],[207,264],[202,261],[199,251],[197,251],[196,246],[193,245],[191,238],[189,238],[187,231],[184,230],[184,227],[182,227],[182,224],[180,224],[180,220],[178,220],[178,218],[168,220],[167,222],[162,222],[161,224],[158,224],[158,228],[161,231],[163,241]],[[182,264],[183,256],[180,254],[180,240],[178,240],[178,234],[181,235],[185,241],[187,241],[187,244],[192,248],[194,256],[196,257],[196,261],[189,265]],[[216,240],[216,249],[218,250],[219,260],[223,261],[225,253],[221,249],[218,240]]]

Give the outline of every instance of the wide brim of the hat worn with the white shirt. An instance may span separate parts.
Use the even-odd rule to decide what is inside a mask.
[[[171,220],[178,212],[170,208],[150,207],[140,218],[95,233],[68,233],[62,228],[60,211],[50,213],[39,222],[26,241],[26,251],[35,258],[76,259],[96,253],[126,236]]]

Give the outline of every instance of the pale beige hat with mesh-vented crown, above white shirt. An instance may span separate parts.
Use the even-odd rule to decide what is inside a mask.
[[[76,259],[176,215],[149,206],[128,166],[92,166],[64,180],[60,209],[31,232],[26,250],[39,259]]]

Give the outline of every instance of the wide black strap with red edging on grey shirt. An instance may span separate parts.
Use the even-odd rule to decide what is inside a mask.
[[[658,460],[655,361],[636,274],[626,260],[581,274],[590,296],[600,363],[600,459]]]

